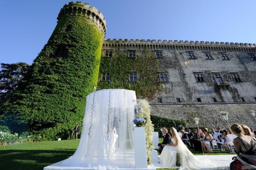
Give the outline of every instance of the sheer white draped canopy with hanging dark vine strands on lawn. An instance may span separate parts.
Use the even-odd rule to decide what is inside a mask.
[[[131,90],[106,89],[89,94],[79,146],[62,165],[92,169],[134,168],[135,104],[135,91]]]

